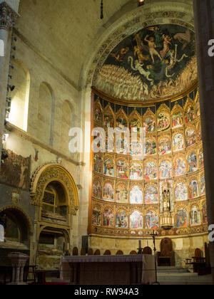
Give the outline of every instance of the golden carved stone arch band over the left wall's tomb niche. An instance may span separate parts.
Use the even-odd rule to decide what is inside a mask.
[[[78,211],[78,191],[71,174],[58,164],[45,164],[34,172],[31,179],[31,204],[42,205],[44,191],[51,182],[59,182],[66,193],[68,213],[76,215]]]

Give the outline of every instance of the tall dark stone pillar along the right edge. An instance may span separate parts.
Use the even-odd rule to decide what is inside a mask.
[[[214,1],[193,0],[198,56],[201,129],[205,162],[208,225],[214,224],[214,56],[208,55],[208,41],[214,39]],[[214,51],[213,51],[214,52]],[[214,242],[210,242],[210,263],[214,284]]]

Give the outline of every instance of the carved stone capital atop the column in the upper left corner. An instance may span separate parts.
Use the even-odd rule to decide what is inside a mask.
[[[0,29],[11,29],[18,18],[19,15],[6,2],[0,4]]]

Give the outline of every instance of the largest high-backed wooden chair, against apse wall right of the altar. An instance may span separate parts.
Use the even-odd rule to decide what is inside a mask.
[[[173,242],[170,238],[161,240],[161,251],[157,252],[158,266],[175,266]]]

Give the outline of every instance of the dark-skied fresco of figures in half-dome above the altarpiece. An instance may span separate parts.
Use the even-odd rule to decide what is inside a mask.
[[[151,101],[182,93],[196,79],[194,33],[165,24],[143,28],[119,43],[95,86],[113,98]]]

